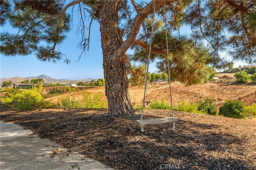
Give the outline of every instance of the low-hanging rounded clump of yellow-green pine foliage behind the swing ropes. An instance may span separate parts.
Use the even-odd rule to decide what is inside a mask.
[[[154,34],[152,45],[156,49],[166,49],[166,36],[164,30],[159,30]],[[212,61],[209,49],[203,45],[196,46],[192,40],[185,37],[174,37],[168,32],[168,47],[170,59],[170,79],[178,80],[186,85],[200,84],[208,81],[215,70],[208,65]],[[135,56],[144,56],[144,49],[137,47]],[[145,52],[144,52],[145,53]],[[134,58],[141,61],[140,58]],[[157,60],[156,67],[164,73],[168,73],[168,60],[166,54],[152,54],[152,60]],[[152,76],[152,75],[151,75]],[[154,79],[163,79],[162,75],[156,73]]]

